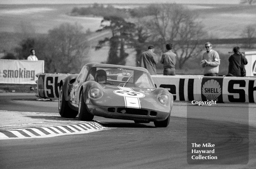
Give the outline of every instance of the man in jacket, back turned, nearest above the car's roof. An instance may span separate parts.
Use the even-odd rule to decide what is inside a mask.
[[[156,64],[158,62],[157,56],[154,53],[154,50],[155,50],[154,46],[149,45],[148,50],[145,52],[142,52],[138,60],[139,66],[146,68],[150,75],[156,74]]]

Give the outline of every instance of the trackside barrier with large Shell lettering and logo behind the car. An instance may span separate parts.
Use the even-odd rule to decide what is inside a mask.
[[[38,95],[57,99],[59,82],[68,74],[39,74]],[[202,75],[152,75],[156,87],[173,94],[176,101],[256,102],[255,77],[204,77]]]

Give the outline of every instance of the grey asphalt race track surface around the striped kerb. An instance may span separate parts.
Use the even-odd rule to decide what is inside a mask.
[[[31,114],[58,112],[57,102],[35,99],[34,95],[0,94],[0,110],[17,112],[10,113],[6,119],[1,115],[0,125],[46,121],[47,116]],[[156,128],[152,122],[135,124],[95,117],[94,120],[106,127],[105,130],[58,137],[0,140],[0,168],[255,169],[255,107],[255,104],[199,107],[176,102],[167,128]],[[28,116],[27,112],[30,112]],[[193,142],[215,144],[215,154],[212,155],[219,157],[216,164],[212,164],[212,160],[189,161],[187,154],[190,157],[191,149],[187,149],[187,145]]]

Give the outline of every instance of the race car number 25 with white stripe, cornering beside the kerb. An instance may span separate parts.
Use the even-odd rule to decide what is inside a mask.
[[[94,116],[154,122],[167,127],[173,96],[165,88],[156,88],[148,70],[100,63],[86,64],[79,74],[60,81],[61,117],[92,121]]]

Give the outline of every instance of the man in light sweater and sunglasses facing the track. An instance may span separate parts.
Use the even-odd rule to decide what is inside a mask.
[[[203,54],[200,65],[204,67],[204,76],[218,76],[220,57],[219,54],[212,50],[212,44],[204,44],[206,52]]]

